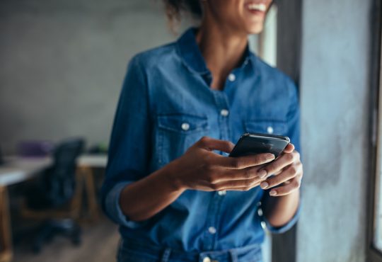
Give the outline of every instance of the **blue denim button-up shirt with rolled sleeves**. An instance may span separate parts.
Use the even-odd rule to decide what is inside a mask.
[[[224,90],[211,89],[196,30],[129,62],[110,140],[103,208],[120,224],[123,239],[183,251],[261,244],[262,222],[271,232],[284,232],[299,211],[284,227],[271,227],[258,212],[262,198],[269,197],[258,186],[222,193],[186,190],[143,222],[129,220],[120,209],[122,188],[161,169],[203,136],[236,143],[244,132],[287,135],[300,151],[298,94],[291,79],[247,47]]]

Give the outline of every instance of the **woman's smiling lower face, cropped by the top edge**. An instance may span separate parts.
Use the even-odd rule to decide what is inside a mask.
[[[228,30],[245,34],[262,31],[272,0],[204,0],[204,12]]]

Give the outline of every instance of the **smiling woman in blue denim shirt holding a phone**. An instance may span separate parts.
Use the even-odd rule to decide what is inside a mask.
[[[201,23],[129,62],[103,185],[120,224],[118,261],[262,261],[262,225],[296,222],[303,175],[296,87],[248,49],[272,3],[166,4]],[[226,157],[244,132],[294,144],[274,161]]]

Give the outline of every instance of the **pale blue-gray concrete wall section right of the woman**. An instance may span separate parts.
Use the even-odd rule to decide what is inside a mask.
[[[299,262],[365,261],[371,1],[303,1]]]

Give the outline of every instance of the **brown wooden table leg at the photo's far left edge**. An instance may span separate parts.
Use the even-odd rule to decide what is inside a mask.
[[[8,190],[0,186],[0,262],[12,260],[11,220],[8,206]]]

